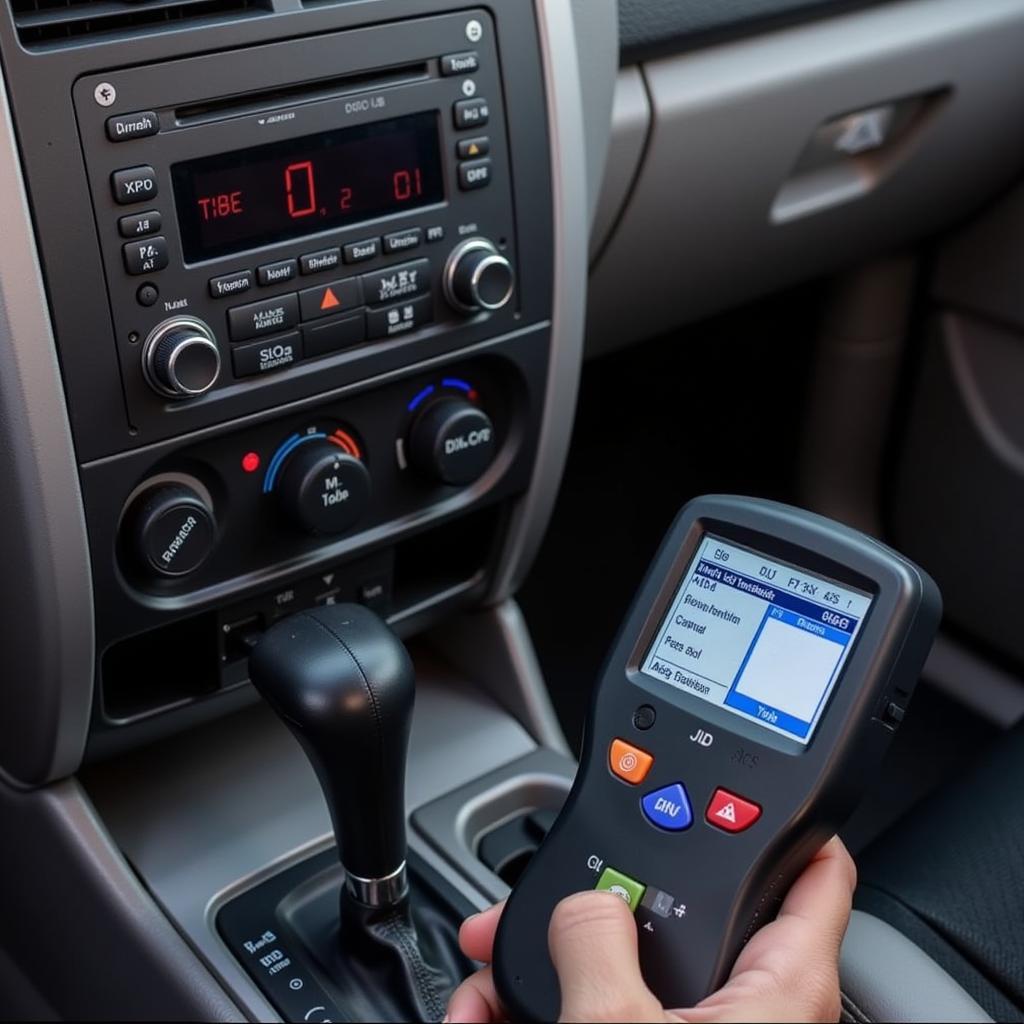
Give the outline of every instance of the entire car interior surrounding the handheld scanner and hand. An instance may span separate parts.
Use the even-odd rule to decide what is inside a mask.
[[[941,590],[844,768],[843,1018],[1024,1020],[1022,54],[1022,0],[4,0],[0,1019],[441,1020],[734,495]]]

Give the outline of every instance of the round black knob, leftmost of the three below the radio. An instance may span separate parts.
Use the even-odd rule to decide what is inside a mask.
[[[217,540],[209,503],[184,483],[144,490],[129,511],[131,541],[146,571],[183,577],[206,561]]]

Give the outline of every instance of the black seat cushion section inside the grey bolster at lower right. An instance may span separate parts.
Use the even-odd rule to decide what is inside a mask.
[[[902,932],[995,1020],[1024,1021],[1024,727],[858,866],[858,909]]]

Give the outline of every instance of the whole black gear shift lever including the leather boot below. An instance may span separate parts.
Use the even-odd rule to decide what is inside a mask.
[[[266,631],[249,676],[319,778],[345,869],[334,912],[310,895],[310,916],[290,913],[279,928],[294,930],[326,970],[345,1019],[439,1020],[471,965],[451,901],[422,870],[410,893],[406,755],[416,682],[406,648],[362,605],[313,608]]]

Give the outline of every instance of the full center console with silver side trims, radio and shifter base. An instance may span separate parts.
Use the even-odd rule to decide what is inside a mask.
[[[25,838],[0,860],[35,879],[5,887],[27,924],[0,947],[58,1014],[311,1020],[319,977],[372,1016],[407,940],[458,980],[459,919],[561,803],[509,597],[568,445],[606,141],[585,132],[614,78],[614,5],[585,36],[573,15],[0,7],[0,817]],[[578,61],[588,39],[606,63]],[[364,916],[374,879],[342,900],[344,958],[391,957],[383,983],[336,970],[324,795],[250,707],[262,638],[353,604],[416,668],[404,778],[386,759],[412,916]],[[37,928],[30,892],[80,912]],[[250,934],[267,908],[294,932]],[[112,958],[118,985],[89,980]],[[407,991],[395,1013],[436,1016]]]

